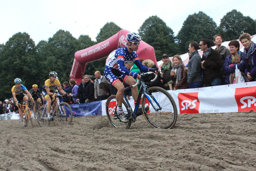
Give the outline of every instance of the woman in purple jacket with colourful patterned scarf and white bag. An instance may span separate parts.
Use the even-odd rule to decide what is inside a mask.
[[[226,74],[225,82],[226,84],[233,84],[233,81],[235,78],[236,65],[237,65],[237,68],[241,71],[241,73],[244,70],[243,64],[241,64],[242,52],[239,51],[240,44],[237,40],[230,41],[228,45],[229,45],[230,55],[226,57],[224,62],[224,71]]]

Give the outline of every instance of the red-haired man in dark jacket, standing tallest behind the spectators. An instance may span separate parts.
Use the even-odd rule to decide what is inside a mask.
[[[230,52],[229,52],[229,49],[226,48],[225,46],[221,46],[222,44],[222,36],[220,34],[217,34],[214,36],[213,38],[213,42],[215,43],[216,45],[216,49],[220,56],[221,56],[221,63],[222,63],[222,67],[221,67],[221,85],[226,85],[226,81],[225,81],[225,77],[226,77],[226,74],[224,72],[224,62],[225,62],[225,59],[227,56],[230,55]]]

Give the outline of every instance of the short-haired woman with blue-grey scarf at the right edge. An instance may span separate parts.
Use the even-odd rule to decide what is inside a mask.
[[[244,46],[242,54],[242,64],[244,65],[244,74],[250,81],[256,81],[256,47],[251,40],[251,35],[243,33],[239,37],[240,42]]]

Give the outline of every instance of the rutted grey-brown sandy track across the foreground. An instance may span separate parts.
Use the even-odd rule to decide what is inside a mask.
[[[131,129],[105,117],[23,128],[0,122],[0,170],[256,170],[256,114],[178,115],[174,129],[139,116]]]

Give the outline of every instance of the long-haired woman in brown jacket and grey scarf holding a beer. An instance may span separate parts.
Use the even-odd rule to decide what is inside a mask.
[[[179,55],[174,55],[171,70],[171,79],[174,82],[173,90],[188,88],[187,73],[184,70],[185,65]]]

